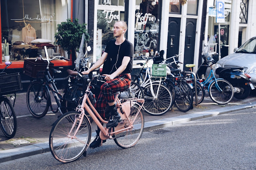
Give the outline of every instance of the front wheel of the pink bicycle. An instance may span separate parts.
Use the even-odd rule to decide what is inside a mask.
[[[69,117],[78,117],[79,112],[68,112],[59,117],[54,123],[49,137],[50,151],[56,160],[60,162],[71,162],[79,158],[90,143],[91,126],[86,117],[82,120],[82,125],[78,128],[80,121],[68,121]],[[73,126],[73,124],[76,125]],[[77,131],[76,135],[74,133]]]

